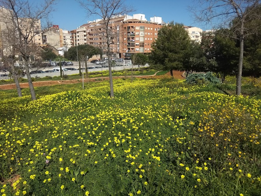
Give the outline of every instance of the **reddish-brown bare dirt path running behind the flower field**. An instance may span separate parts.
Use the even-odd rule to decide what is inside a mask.
[[[156,76],[157,72],[153,75],[136,75],[134,76],[135,78],[152,78],[152,77],[160,77],[160,76]],[[184,79],[181,76],[182,72],[180,71],[173,71],[173,76],[174,78],[177,79]],[[169,75],[170,76],[170,72],[166,73],[165,75]],[[124,77],[131,77],[131,76],[114,76],[114,79],[117,78],[124,78]],[[97,81],[97,79],[99,78],[89,78],[89,79],[84,79],[84,82],[94,82]],[[102,80],[109,80],[109,77],[102,77]],[[39,82],[33,82],[34,87],[42,87],[42,86],[52,86],[52,85],[57,85],[57,84],[75,84],[75,83],[79,83],[82,82],[81,79],[75,79],[75,80],[48,80],[48,81],[39,81]],[[28,83],[20,83],[20,87],[21,88],[28,88]],[[15,84],[3,84],[0,85],[0,90],[10,90],[10,89],[16,89]]]

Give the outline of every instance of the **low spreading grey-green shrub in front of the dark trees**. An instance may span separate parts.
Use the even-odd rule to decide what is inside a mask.
[[[212,83],[220,84],[220,80],[213,75],[212,72],[193,73],[186,77],[186,82],[189,84]]]

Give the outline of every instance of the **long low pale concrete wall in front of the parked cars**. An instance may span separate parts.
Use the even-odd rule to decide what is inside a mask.
[[[146,64],[145,66],[148,66],[148,64]],[[131,69],[132,66],[117,66],[114,67],[114,71],[118,71],[118,70],[123,70],[123,69]],[[138,68],[138,65],[133,66],[135,68]],[[113,67],[111,68],[113,71]],[[106,68],[99,68],[99,69],[89,69],[89,72],[94,72],[94,71],[105,71],[105,70],[109,70],[108,67]],[[85,73],[85,70],[84,70]],[[64,74],[66,75],[72,75],[72,74],[79,74],[79,70],[74,70],[74,71],[64,71]],[[52,73],[35,73],[35,74],[31,74],[31,77],[34,78],[37,75],[37,77],[40,78],[44,78],[46,75],[48,76],[60,76],[60,72],[52,72]],[[23,78],[27,79],[27,76],[25,75]]]

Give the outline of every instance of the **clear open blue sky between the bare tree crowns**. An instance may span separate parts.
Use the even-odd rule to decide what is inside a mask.
[[[150,17],[162,17],[163,21],[180,22],[187,26],[197,26],[206,30],[204,26],[194,23],[193,18],[187,11],[187,6],[192,3],[191,0],[127,0],[126,4],[133,3],[137,10],[133,14],[145,14],[149,21]],[[86,17],[84,9],[74,0],[59,0],[56,10],[52,13],[53,24],[59,25],[65,30],[73,30],[88,20],[97,19],[97,17]]]

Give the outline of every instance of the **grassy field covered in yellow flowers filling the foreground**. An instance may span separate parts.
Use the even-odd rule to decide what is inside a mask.
[[[6,93],[0,196],[261,195],[260,99],[168,78],[114,91]]]

